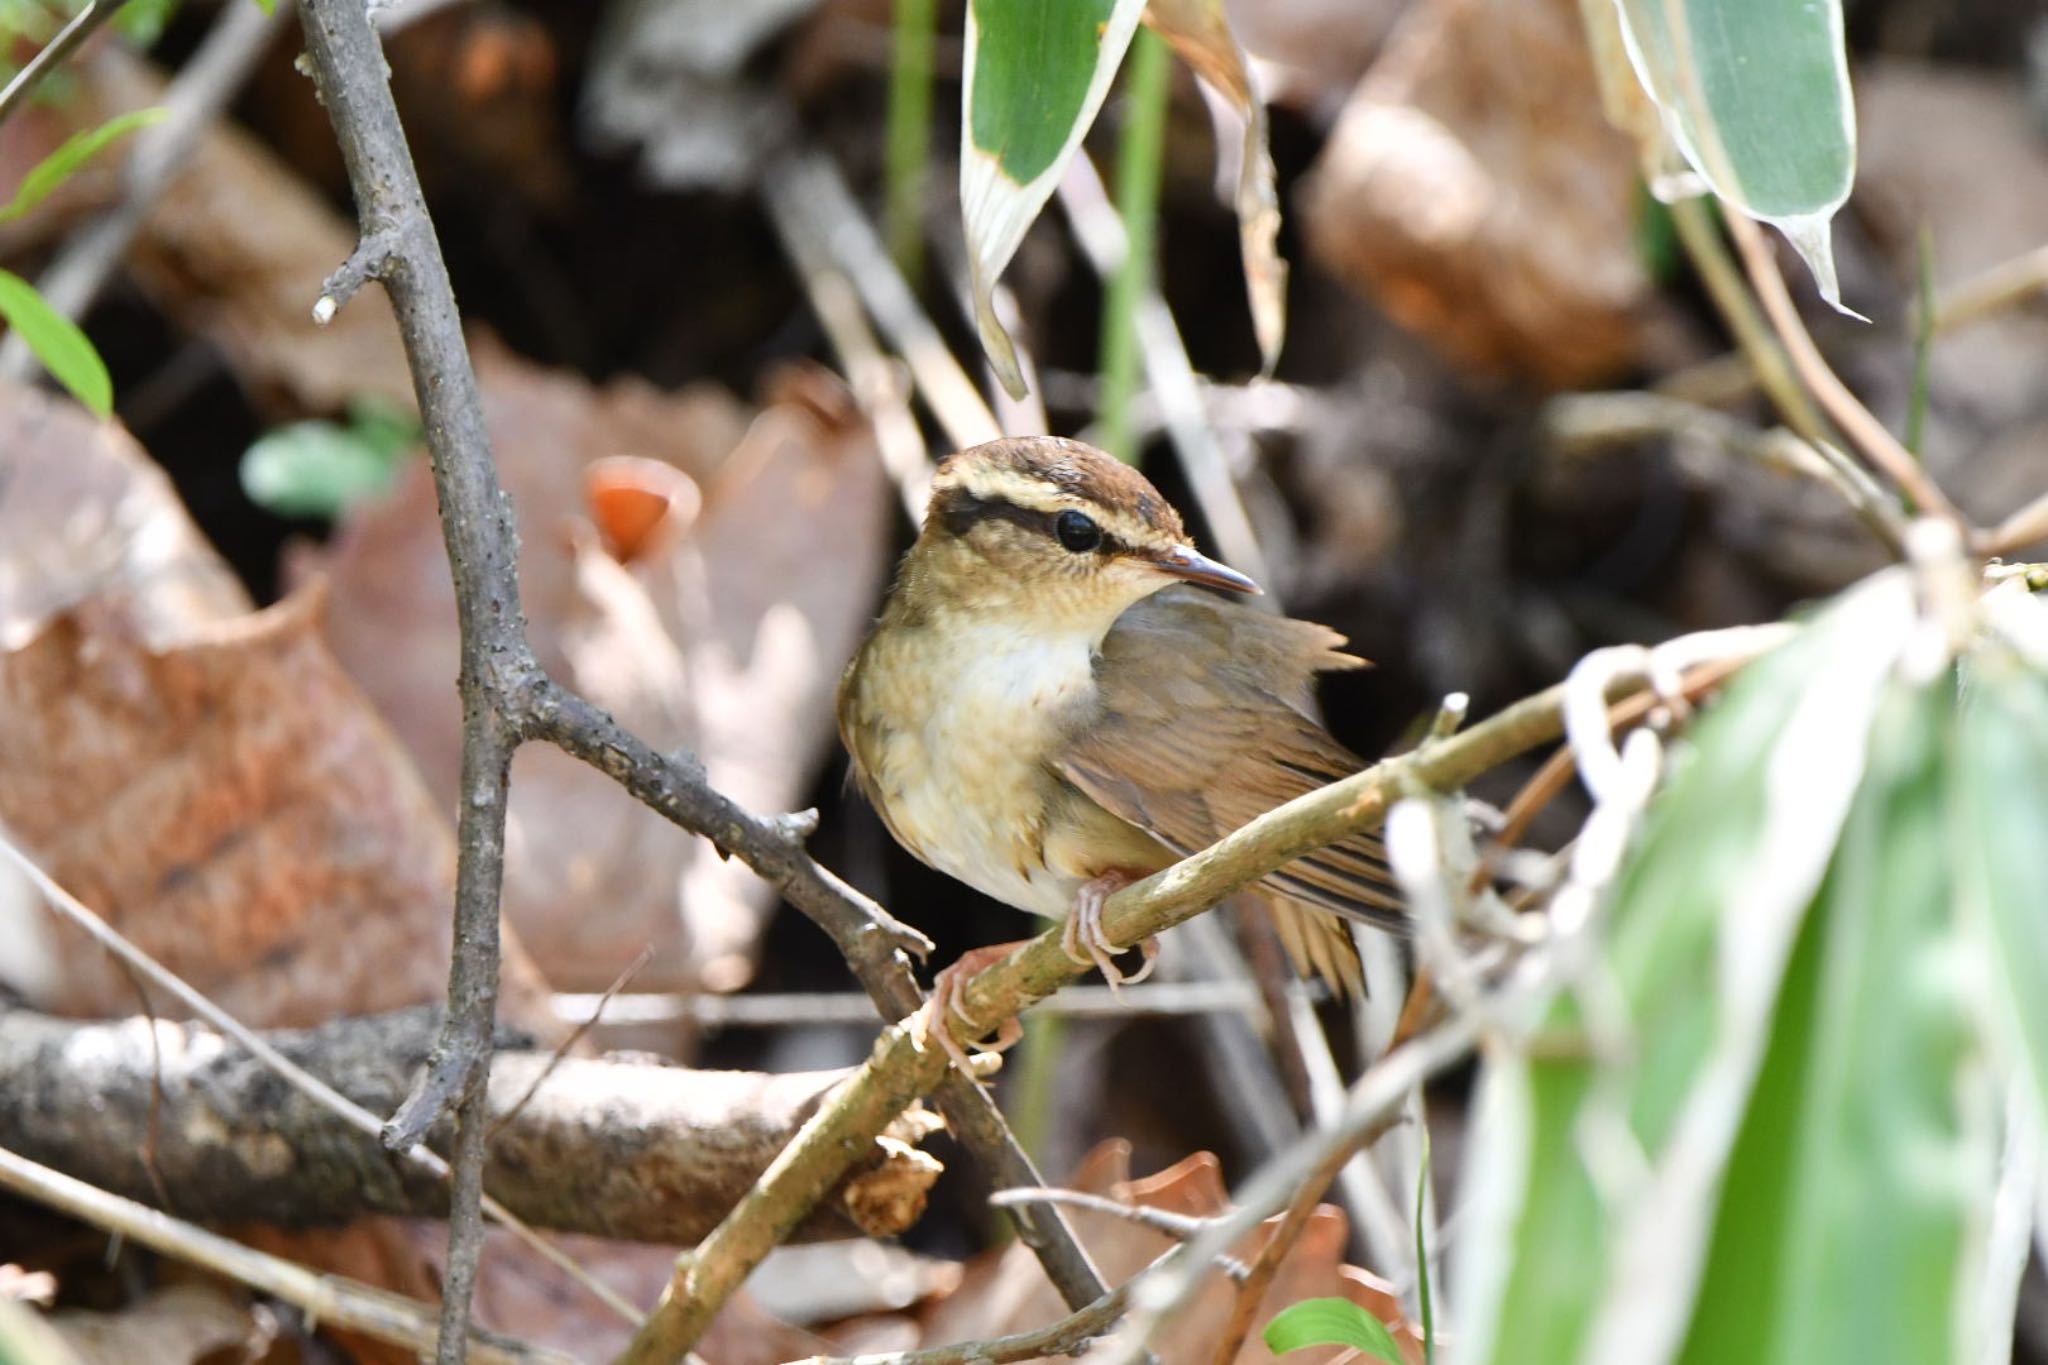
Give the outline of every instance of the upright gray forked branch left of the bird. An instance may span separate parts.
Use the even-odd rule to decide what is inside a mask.
[[[901,950],[922,950],[926,943],[819,868],[784,823],[741,810],[711,790],[698,769],[655,753],[610,716],[545,677],[526,641],[518,600],[518,536],[492,463],[461,315],[385,82],[377,37],[360,2],[309,0],[305,41],[313,80],[348,166],[367,244],[330,282],[319,315],[332,317],[340,297],[358,287],[360,278],[379,278],[391,295],[420,395],[461,624],[463,798],[457,821],[449,1023],[420,1087],[385,1134],[393,1146],[408,1146],[449,1103],[457,1105],[461,1136],[455,1164],[463,1179],[449,1218],[440,1347],[440,1361],[446,1363],[461,1359],[481,1236],[481,1078],[489,1060],[498,990],[506,780],[520,741],[547,739],[567,749],[684,829],[739,855],[831,933],[891,1019],[922,1005]],[[954,1134],[989,1164],[997,1181],[1038,1183],[985,1093],[952,1081],[940,1091],[938,1105]],[[1020,1222],[1024,1240],[1040,1254],[1069,1306],[1102,1295],[1102,1277],[1065,1220],[1036,1209]]]

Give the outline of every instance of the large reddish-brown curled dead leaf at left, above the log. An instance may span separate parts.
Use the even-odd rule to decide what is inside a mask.
[[[436,999],[453,839],[319,639],[317,596],[150,647],[117,604],[0,655],[0,821],[143,952],[258,1027]],[[135,1009],[59,933],[45,1007]]]

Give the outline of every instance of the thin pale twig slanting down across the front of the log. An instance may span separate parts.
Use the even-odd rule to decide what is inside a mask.
[[[47,872],[43,872],[43,868],[33,857],[23,853],[6,837],[0,837],[0,857],[20,868],[23,876],[27,876],[35,884],[35,888],[43,892],[43,898],[49,902],[51,909],[63,915],[72,925],[82,929],[88,937],[92,937],[100,948],[111,952],[123,964],[139,972],[143,978],[147,978],[164,993],[168,993],[172,999],[176,999],[180,1005],[184,1005],[188,1011],[193,1011],[195,1017],[205,1019],[227,1038],[233,1038],[238,1044],[248,1048],[256,1060],[260,1060],[279,1076],[283,1076],[297,1091],[309,1095],[313,1101],[317,1101],[322,1107],[326,1107],[330,1113],[340,1117],[350,1128],[369,1134],[373,1138],[383,1136],[383,1119],[379,1119],[375,1113],[371,1113],[369,1109],[348,1099],[319,1076],[311,1074],[309,1070],[287,1058],[283,1052],[272,1048],[260,1033],[256,1033],[246,1023],[242,1023],[225,1009],[215,1005],[205,993],[201,993],[188,980],[166,968],[162,962],[158,962],[143,950],[135,948],[135,943],[131,943],[119,929],[115,929],[96,913],[92,913],[92,909],[84,900],[80,900],[63,886],[59,886]],[[399,1156],[416,1162],[422,1171],[426,1171],[434,1179],[446,1181],[453,1175],[449,1162],[444,1162],[440,1154],[428,1148],[426,1144],[416,1142],[403,1148]],[[549,1261],[565,1275],[569,1275],[575,1283],[580,1283],[584,1289],[588,1289],[600,1304],[610,1308],[625,1322],[639,1322],[641,1318],[639,1310],[621,1300],[600,1279],[590,1275],[590,1271],[571,1261],[559,1246],[555,1246],[539,1232],[528,1228],[508,1207],[504,1207],[492,1197],[485,1197],[483,1212],[489,1214],[496,1222],[504,1224],[514,1236],[526,1242],[526,1246],[539,1252],[545,1261]]]

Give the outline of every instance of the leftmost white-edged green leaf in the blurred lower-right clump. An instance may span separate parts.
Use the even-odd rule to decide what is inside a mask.
[[[1497,1244],[1466,1234],[1485,1273],[1460,1295],[1460,1359],[1597,1357],[1616,1320],[1640,1340],[1683,1332],[1692,1279],[1671,1250],[1708,1240],[1733,1117],[1913,610],[1911,581],[1878,575],[1737,677],[1616,878],[1597,986],[1552,1005],[1534,1054],[1489,1054],[1468,1218]],[[1595,1179],[1614,1169],[1602,1154],[1632,1171],[1630,1197]]]

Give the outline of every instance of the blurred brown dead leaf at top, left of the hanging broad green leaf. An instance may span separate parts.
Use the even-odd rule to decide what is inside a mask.
[[[1458,364],[1548,387],[1642,362],[1636,151],[1575,0],[1419,0],[1303,188],[1309,248]]]

